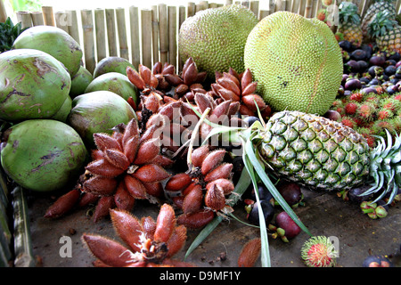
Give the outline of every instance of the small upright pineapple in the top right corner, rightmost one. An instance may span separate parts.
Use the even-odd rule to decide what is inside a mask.
[[[381,51],[401,53],[401,26],[388,10],[377,13],[368,31]]]

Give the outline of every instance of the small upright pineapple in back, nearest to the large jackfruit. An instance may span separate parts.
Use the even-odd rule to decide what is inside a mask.
[[[342,2],[339,7],[339,29],[345,40],[356,46],[362,44],[361,17],[358,14],[358,6],[351,2]]]

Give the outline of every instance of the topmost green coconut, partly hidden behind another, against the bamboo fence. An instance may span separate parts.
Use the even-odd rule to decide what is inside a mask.
[[[15,39],[12,48],[32,48],[49,53],[64,64],[71,77],[78,72],[83,54],[73,37],[61,28],[53,26],[26,29]]]

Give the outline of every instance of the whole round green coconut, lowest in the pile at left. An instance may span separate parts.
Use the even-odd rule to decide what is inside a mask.
[[[32,191],[60,190],[82,172],[87,151],[79,134],[53,119],[30,119],[7,129],[1,151],[4,171]]]

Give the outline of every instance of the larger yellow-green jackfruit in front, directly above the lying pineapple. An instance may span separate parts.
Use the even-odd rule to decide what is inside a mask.
[[[244,62],[258,81],[258,94],[276,111],[323,115],[343,73],[331,29],[293,12],[274,12],[259,21],[247,39]]]

